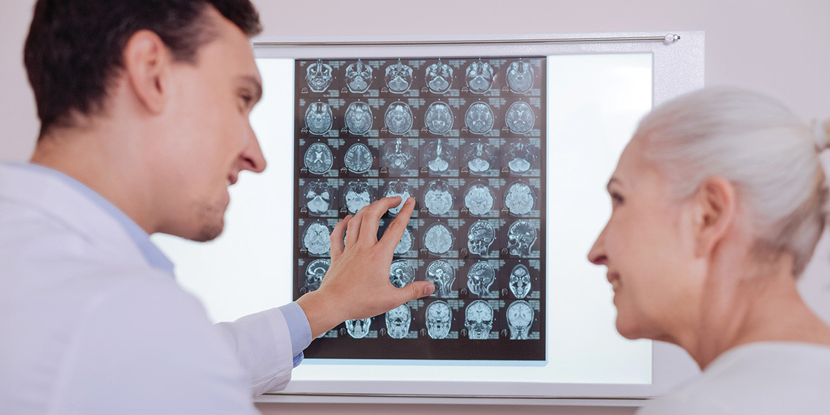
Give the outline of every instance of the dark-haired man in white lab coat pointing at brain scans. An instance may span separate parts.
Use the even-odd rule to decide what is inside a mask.
[[[0,165],[0,412],[255,413],[311,339],[432,293],[388,281],[398,198],[340,222],[320,289],[290,305],[212,326],[176,286],[149,234],[217,237],[227,187],[266,166],[258,32],[247,0],[37,2],[41,133],[31,164]]]

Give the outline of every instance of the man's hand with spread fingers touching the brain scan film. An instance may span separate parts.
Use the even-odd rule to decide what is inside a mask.
[[[392,256],[412,217],[415,199],[408,198],[380,241],[378,224],[383,213],[400,201],[399,197],[382,198],[334,227],[329,271],[318,290],[297,300],[314,338],[345,320],[374,317],[435,291],[429,281],[413,281],[403,288],[389,282]]]

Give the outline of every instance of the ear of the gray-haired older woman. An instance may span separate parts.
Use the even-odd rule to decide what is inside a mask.
[[[706,178],[698,186],[695,203],[695,255],[706,256],[735,225],[738,200],[735,186],[720,176]]]

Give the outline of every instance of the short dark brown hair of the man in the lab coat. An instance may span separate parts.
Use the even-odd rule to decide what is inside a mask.
[[[38,0],[23,50],[41,119],[71,126],[72,115],[104,110],[124,48],[140,30],[155,32],[176,61],[194,63],[198,48],[216,36],[207,7],[248,37],[262,31],[250,0]]]

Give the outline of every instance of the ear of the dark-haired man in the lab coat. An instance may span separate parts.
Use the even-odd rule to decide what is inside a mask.
[[[164,110],[168,100],[171,56],[159,35],[140,30],[124,48],[124,66],[129,87],[151,113]]]

